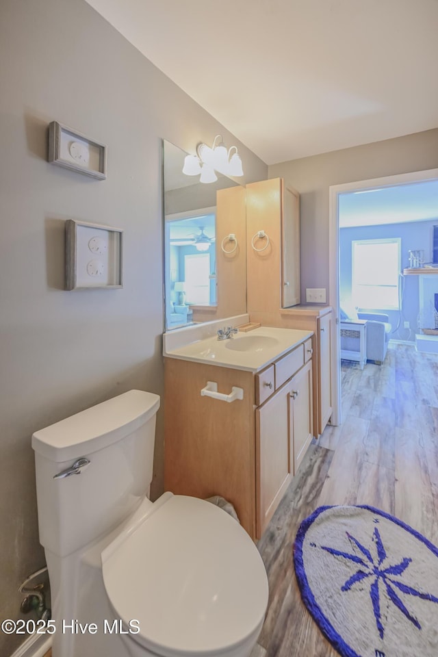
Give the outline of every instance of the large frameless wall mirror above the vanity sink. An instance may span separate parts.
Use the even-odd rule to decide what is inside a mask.
[[[183,174],[185,155],[164,140],[165,331],[246,312],[244,188]]]

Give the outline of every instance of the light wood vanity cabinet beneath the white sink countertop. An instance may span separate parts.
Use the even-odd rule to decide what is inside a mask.
[[[311,338],[260,372],[166,357],[166,490],[221,495],[261,537],[313,435],[309,352]],[[225,394],[241,387],[243,399],[201,396],[208,381]]]

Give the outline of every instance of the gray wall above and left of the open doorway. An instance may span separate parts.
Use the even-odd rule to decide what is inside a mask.
[[[400,110],[402,111],[402,110]],[[301,298],[329,288],[329,187],[438,167],[438,129],[269,167],[300,192]]]

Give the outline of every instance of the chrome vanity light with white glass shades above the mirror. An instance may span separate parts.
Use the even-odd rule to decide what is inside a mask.
[[[231,152],[235,149],[235,153]],[[214,183],[218,178],[215,170],[226,175],[238,178],[244,175],[242,159],[237,152],[237,146],[231,146],[229,151],[225,146],[222,136],[216,135],[213,145],[198,144],[196,155],[186,155],[184,159],[183,173],[188,176],[201,174],[201,183]]]

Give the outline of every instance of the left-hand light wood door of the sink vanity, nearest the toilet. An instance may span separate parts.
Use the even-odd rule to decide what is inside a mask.
[[[257,537],[270,521],[292,476],[289,385],[255,411]]]

